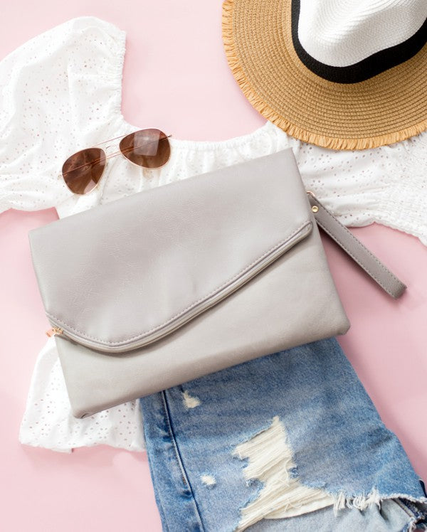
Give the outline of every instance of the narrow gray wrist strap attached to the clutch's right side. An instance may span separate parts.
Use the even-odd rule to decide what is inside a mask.
[[[399,281],[388,268],[380,262],[350,231],[328,211],[312,192],[307,192],[317,225],[325,231],[368,275],[397,299],[401,297],[406,285]]]

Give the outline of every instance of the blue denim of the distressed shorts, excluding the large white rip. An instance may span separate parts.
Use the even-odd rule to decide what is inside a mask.
[[[185,395],[196,400],[193,408]],[[328,506],[302,516],[263,519],[251,530],[389,532],[425,522],[419,479],[335,339],[213,373],[142,398],[140,405],[165,530],[236,528],[241,509],[259,496],[263,482],[243,477],[246,460],[233,451],[267,430],[274,417],[288,436],[293,477],[347,500],[375,490],[381,508],[371,504],[334,514]],[[204,475],[214,484],[206,485]]]

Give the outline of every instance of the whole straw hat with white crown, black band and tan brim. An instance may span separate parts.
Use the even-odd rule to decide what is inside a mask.
[[[333,149],[427,129],[427,0],[226,0],[223,42],[253,107]]]

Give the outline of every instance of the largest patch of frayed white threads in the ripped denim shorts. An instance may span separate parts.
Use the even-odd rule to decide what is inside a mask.
[[[268,429],[259,432],[247,442],[239,444],[233,454],[248,459],[243,475],[248,480],[263,482],[257,499],[241,509],[241,521],[236,532],[241,532],[261,519],[300,516],[326,506],[334,499],[322,489],[304,486],[292,477],[295,463],[288,445],[285,427],[275,416]]]

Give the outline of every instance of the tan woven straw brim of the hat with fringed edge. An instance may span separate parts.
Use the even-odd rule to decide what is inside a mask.
[[[292,44],[290,0],[226,0],[223,43],[248,100],[292,137],[332,149],[367,149],[427,129],[427,46],[360,83],[324,80]]]

